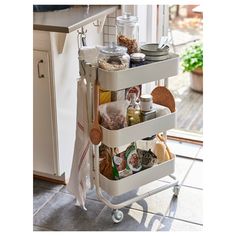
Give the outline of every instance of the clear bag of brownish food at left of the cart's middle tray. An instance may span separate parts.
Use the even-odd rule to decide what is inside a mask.
[[[127,126],[127,108],[129,101],[122,100],[99,106],[101,125],[106,129],[118,130]]]

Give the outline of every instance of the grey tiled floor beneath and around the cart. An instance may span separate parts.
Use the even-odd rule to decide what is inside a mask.
[[[175,176],[182,184],[178,198],[172,189],[152,195],[122,209],[124,219],[114,224],[111,210],[90,191],[87,211],[75,206],[74,197],[63,185],[34,180],[34,231],[200,231],[203,229],[202,169],[199,145],[169,141],[176,157]],[[184,151],[185,150],[185,151]],[[184,158],[183,156],[190,157]],[[112,198],[120,202],[170,181],[165,177],[137,190]]]

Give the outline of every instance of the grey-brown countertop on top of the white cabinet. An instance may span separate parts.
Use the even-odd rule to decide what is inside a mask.
[[[118,9],[118,5],[78,5],[69,9],[34,12],[33,29],[70,33]]]

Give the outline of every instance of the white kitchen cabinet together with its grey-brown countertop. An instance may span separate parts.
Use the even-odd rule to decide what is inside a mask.
[[[65,182],[70,176],[79,77],[77,30],[84,27],[88,46],[102,45],[103,35],[93,23],[117,9],[90,5],[34,12],[33,138],[34,174],[38,176]]]

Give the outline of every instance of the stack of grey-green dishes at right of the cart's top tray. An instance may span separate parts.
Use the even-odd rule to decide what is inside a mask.
[[[169,46],[167,45],[164,48],[158,48],[158,43],[149,43],[142,45],[140,50],[149,61],[162,61],[169,58]]]

